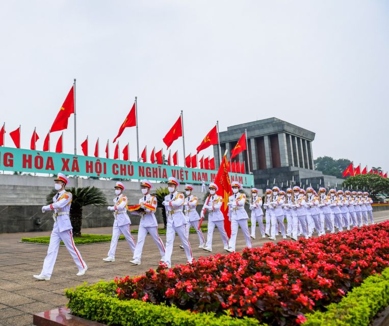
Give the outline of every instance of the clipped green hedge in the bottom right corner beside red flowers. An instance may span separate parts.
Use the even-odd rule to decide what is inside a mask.
[[[382,275],[369,276],[338,304],[330,304],[325,312],[305,317],[304,326],[367,326],[374,316],[389,304],[389,268]]]

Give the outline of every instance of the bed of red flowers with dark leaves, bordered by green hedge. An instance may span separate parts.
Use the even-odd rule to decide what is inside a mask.
[[[193,312],[229,310],[271,325],[305,321],[389,265],[389,222],[150,269],[115,279],[121,299],[174,304]]]

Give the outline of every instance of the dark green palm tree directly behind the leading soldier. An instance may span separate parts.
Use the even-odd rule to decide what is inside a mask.
[[[83,222],[83,207],[87,205],[107,205],[106,196],[99,188],[82,187],[70,188],[68,191],[72,194],[72,202],[70,206],[70,222],[73,227],[73,235],[81,236],[81,224]],[[57,194],[54,189],[46,197],[47,203],[53,201],[53,197]]]

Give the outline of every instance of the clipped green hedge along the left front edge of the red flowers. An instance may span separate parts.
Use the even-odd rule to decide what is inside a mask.
[[[258,326],[253,318],[234,318],[228,314],[215,316],[214,313],[193,313],[174,306],[153,305],[139,300],[118,300],[116,284],[99,282],[91,286],[81,285],[65,291],[69,298],[68,307],[82,318],[108,325],[122,326]],[[265,326],[264,324],[261,324]]]

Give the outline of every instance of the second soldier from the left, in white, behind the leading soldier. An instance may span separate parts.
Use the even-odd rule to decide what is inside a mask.
[[[111,246],[110,250],[108,252],[108,257],[103,258],[102,260],[105,262],[111,262],[115,261],[115,252],[116,252],[116,246],[117,241],[119,240],[119,236],[121,234],[124,235],[124,238],[127,240],[129,249],[131,249],[132,252],[135,251],[136,242],[131,235],[131,221],[129,220],[129,217],[127,215],[127,205],[128,200],[127,197],[123,195],[123,191],[125,190],[125,186],[122,182],[118,181],[115,185],[115,195],[114,198],[114,206],[108,206],[108,210],[111,210],[114,215],[114,225],[112,228],[112,239],[111,239]]]

